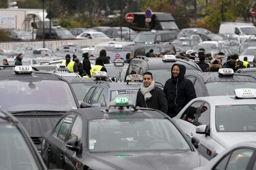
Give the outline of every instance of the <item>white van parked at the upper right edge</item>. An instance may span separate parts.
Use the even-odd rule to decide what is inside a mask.
[[[226,22],[220,25],[220,34],[256,35],[256,27],[252,23]]]

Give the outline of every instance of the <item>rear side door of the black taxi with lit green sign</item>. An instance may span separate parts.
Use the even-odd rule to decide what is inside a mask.
[[[63,168],[64,155],[66,149],[65,141],[69,132],[70,126],[73,123],[75,115],[67,115],[56,126],[53,136],[48,142],[48,158],[49,168]]]

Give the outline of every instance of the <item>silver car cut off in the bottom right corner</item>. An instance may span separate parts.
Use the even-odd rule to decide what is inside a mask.
[[[232,169],[232,170],[255,170],[255,152],[256,142],[243,142],[228,148],[220,155],[213,158],[205,166],[195,168],[194,170],[208,170],[208,169]]]

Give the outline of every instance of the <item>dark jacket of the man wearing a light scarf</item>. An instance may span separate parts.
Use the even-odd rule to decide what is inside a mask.
[[[155,87],[153,90],[150,91],[150,94],[152,95],[152,97],[149,100],[145,101],[144,95],[142,94],[142,92],[140,92],[139,89],[137,93],[136,106],[154,108],[156,110],[162,111],[163,113],[167,113],[168,105],[163,90]]]

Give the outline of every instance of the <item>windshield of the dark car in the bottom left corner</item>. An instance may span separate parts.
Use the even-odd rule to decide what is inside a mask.
[[[41,169],[17,127],[0,124],[0,169]]]

